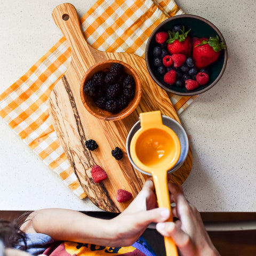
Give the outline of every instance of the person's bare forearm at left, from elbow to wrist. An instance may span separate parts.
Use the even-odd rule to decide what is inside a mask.
[[[43,233],[56,241],[111,246],[115,241],[115,227],[109,220],[89,217],[81,212],[63,209],[43,209],[30,214],[24,231]]]

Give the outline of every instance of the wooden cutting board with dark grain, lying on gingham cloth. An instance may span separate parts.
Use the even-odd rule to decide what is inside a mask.
[[[49,99],[49,110],[54,129],[71,166],[91,201],[108,212],[122,212],[131,202],[118,203],[118,189],[130,191],[133,198],[141,190],[147,175],[133,169],[126,154],[126,137],[141,112],[161,110],[163,115],[179,121],[167,93],[150,77],[146,62],[141,57],[127,53],[109,53],[93,49],[87,44],[81,30],[76,9],[71,4],[61,4],[52,13],[56,25],[67,38],[71,47],[68,70],[55,85]],[[139,106],[131,115],[120,121],[103,121],[92,116],[83,106],[79,87],[86,70],[95,63],[108,59],[120,60],[130,65],[142,84]],[[87,150],[85,141],[93,139],[99,147]],[[123,158],[117,161],[111,150],[119,147]],[[95,183],[91,167],[100,165],[108,178]],[[189,175],[192,155],[189,149],[185,164],[173,173],[173,182],[182,184]]]

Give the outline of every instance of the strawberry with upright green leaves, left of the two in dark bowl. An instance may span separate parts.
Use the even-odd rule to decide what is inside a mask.
[[[171,54],[182,53],[186,57],[189,57],[193,48],[191,38],[188,36],[190,29],[185,32],[185,27],[183,26],[179,31],[176,33],[174,31],[168,31],[169,39],[166,41],[168,43],[167,49]]]

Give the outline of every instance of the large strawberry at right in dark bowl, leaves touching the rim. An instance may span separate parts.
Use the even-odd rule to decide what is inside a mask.
[[[216,61],[220,56],[220,51],[226,49],[223,40],[219,36],[207,38],[194,38],[193,58],[197,68],[204,68]]]

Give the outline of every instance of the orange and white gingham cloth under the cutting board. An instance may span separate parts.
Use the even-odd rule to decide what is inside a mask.
[[[99,0],[82,17],[87,42],[95,49],[144,57],[150,34],[162,21],[183,11],[173,0]],[[0,95],[0,115],[21,139],[81,199],[86,197],[49,118],[47,99],[70,62],[62,37],[25,75]],[[196,97],[169,94],[180,114]]]

